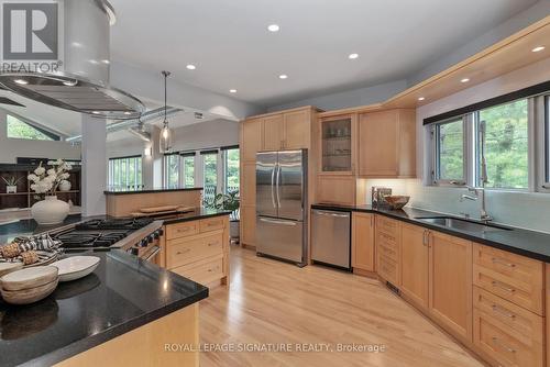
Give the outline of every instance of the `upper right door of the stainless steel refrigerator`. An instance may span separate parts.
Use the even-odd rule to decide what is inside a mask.
[[[306,162],[306,153],[302,151],[278,153],[275,182],[279,218],[294,221],[304,219]]]

